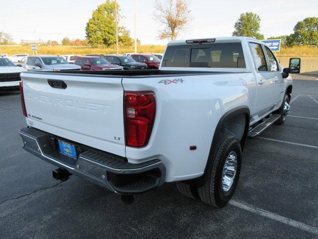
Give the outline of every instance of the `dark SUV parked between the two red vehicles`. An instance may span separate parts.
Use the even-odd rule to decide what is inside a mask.
[[[106,55],[104,58],[112,64],[124,67],[124,70],[146,70],[146,63],[136,62],[129,56]]]

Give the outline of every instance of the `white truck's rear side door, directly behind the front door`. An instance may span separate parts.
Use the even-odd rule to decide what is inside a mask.
[[[255,116],[253,117],[257,120],[257,117],[268,114],[274,107],[274,85],[272,83],[273,76],[268,71],[267,60],[262,45],[249,42],[249,47],[255,66],[256,103]]]

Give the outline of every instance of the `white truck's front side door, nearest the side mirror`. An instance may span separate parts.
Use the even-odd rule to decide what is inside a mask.
[[[275,100],[275,108],[280,106],[285,95],[285,84],[282,73],[280,72],[279,64],[273,52],[264,46],[268,64],[268,77],[272,80],[273,85],[273,99]]]

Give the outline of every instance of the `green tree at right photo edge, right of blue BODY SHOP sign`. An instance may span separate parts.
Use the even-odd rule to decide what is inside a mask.
[[[318,46],[318,17],[307,17],[297,22],[289,44]]]

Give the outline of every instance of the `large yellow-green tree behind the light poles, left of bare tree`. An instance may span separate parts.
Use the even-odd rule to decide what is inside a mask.
[[[120,11],[117,3],[117,11]],[[120,15],[118,19],[120,19]],[[93,46],[111,46],[116,43],[115,29],[115,1],[106,0],[106,3],[97,6],[92,17],[88,19],[85,27],[86,39]],[[118,42],[121,45],[130,46],[130,31],[118,24]]]

